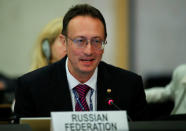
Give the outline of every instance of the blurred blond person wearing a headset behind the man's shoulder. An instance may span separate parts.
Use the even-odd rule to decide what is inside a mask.
[[[62,18],[50,21],[40,32],[33,53],[31,71],[54,63],[66,55],[64,45],[59,39]]]

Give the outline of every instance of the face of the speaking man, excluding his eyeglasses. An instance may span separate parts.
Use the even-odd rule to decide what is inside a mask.
[[[96,37],[104,40],[104,26],[97,18],[76,16],[68,24],[67,36],[71,39],[84,37],[91,40]],[[69,59],[68,68],[75,77],[92,75],[104,52],[95,49],[90,42],[84,48],[77,48],[70,39],[67,39],[66,50]]]

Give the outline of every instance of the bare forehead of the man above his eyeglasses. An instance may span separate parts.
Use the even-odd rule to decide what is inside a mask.
[[[104,25],[98,19],[91,16],[76,16],[70,20],[68,35],[86,36],[95,35],[104,38]]]

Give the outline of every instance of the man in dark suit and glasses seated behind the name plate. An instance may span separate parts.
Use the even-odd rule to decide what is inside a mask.
[[[72,7],[64,17],[60,36],[67,56],[18,79],[16,115],[118,110],[107,103],[112,99],[133,120],[143,119],[147,103],[141,77],[100,62],[106,37],[105,20],[99,10],[87,4]]]

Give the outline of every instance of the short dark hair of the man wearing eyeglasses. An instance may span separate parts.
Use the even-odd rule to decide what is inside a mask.
[[[76,16],[91,16],[93,18],[98,18],[104,26],[104,32],[105,32],[105,39],[107,38],[107,30],[106,30],[106,23],[103,15],[101,12],[96,9],[95,7],[88,5],[88,4],[78,4],[76,6],[73,6],[69,9],[69,11],[65,14],[63,18],[63,29],[62,34],[67,35],[67,27],[71,19],[73,19]]]

